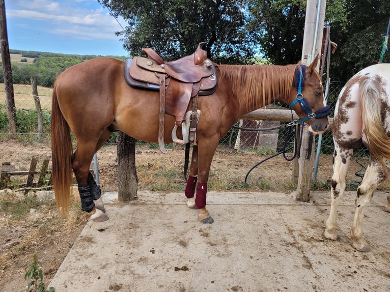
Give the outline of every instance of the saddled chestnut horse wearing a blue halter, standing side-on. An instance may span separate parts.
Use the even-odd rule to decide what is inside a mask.
[[[198,220],[202,223],[213,222],[206,210],[206,193],[214,152],[219,139],[242,115],[281,101],[290,105],[301,118],[299,121],[306,121],[312,132],[322,133],[328,128],[330,110],[324,103],[316,65],[317,58],[308,67],[215,65],[217,89],[211,95],[198,97],[201,114],[185,188],[187,205],[199,209]],[[124,62],[100,57],[68,68],[55,81],[51,113],[52,173],[62,216],[68,212],[73,170],[82,210],[90,212],[94,221],[108,219],[101,190],[89,168],[93,155],[112,131],[119,130],[145,142],[158,141],[159,92],[129,86],[124,70]],[[175,117],[165,114],[164,143],[173,142],[170,133],[174,125]],[[77,143],[74,152],[70,131]],[[182,137],[181,131],[177,131],[177,136]]]

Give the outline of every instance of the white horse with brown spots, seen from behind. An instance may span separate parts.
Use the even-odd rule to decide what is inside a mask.
[[[333,118],[333,176],[330,214],[325,237],[337,239],[337,207],[345,189],[345,177],[354,149],[362,143],[370,152],[363,181],[357,188],[352,246],[367,252],[363,238],[363,217],[374,190],[388,176],[390,167],[390,64],[377,64],[355,74],[343,87]],[[384,211],[390,212],[390,196]]]

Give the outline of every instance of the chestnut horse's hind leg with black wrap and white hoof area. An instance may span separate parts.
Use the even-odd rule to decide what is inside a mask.
[[[102,222],[108,220],[108,217],[104,214],[105,209],[100,197],[101,190],[89,171],[94,154],[94,143],[77,141],[77,149],[73,154],[72,169],[80,194],[81,209],[91,213],[91,219],[93,221]]]

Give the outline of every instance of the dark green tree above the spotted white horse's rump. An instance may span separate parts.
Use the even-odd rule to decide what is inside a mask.
[[[390,17],[388,0],[333,0],[326,19],[330,39],[338,44],[331,57],[332,80],[346,81],[355,73],[377,64]],[[387,51],[384,63],[390,63]]]

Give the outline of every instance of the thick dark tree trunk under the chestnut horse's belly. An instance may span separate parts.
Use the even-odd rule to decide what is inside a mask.
[[[118,199],[130,201],[137,199],[138,177],[135,169],[135,139],[118,132]]]

